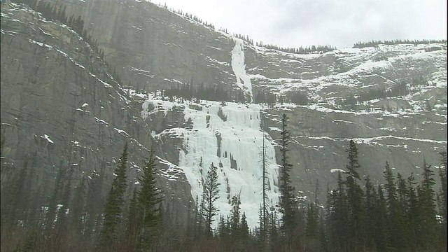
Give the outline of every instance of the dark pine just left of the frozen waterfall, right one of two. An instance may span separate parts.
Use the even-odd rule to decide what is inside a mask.
[[[155,157],[151,151],[143,175],[139,179],[141,190],[139,191],[138,201],[142,213],[141,225],[141,245],[145,249],[151,248],[151,241],[155,237],[158,225],[161,223],[161,202],[160,190],[156,187],[155,180]]]

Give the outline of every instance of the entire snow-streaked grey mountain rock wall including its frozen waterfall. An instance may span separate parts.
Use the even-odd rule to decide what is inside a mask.
[[[446,43],[296,55],[251,45],[153,3],[52,2],[85,20],[126,88],[76,33],[2,3],[2,162],[34,155],[41,181],[60,165],[79,174],[106,167],[111,177],[112,157],[127,141],[132,185],[153,146],[165,207],[181,218],[193,211],[213,162],[220,168],[221,213],[228,214],[228,200],[241,191],[241,209],[253,227],[263,142],[269,200],[278,201],[283,113],[290,119],[291,179],[301,199],[324,200],[322,188],[335,186],[335,171],[345,169],[350,139],[358,144],[360,174],[377,183],[386,161],[404,176],[420,174],[423,158],[437,166],[437,153],[446,150]],[[160,92],[186,83],[219,86],[234,96],[238,90],[252,102],[187,101]],[[392,92],[402,83],[407,92]],[[374,97],[375,90],[391,94]],[[254,104],[262,93],[285,101],[300,93],[308,102]],[[367,94],[358,104],[346,102]],[[7,174],[2,168],[1,178]],[[321,192],[314,195],[317,179]]]

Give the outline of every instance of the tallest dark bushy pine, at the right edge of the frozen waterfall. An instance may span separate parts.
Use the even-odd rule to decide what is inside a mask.
[[[294,187],[290,186],[290,169],[293,167],[289,162],[288,157],[288,146],[290,141],[290,135],[288,130],[286,130],[288,122],[288,116],[283,113],[283,117],[281,120],[281,167],[280,167],[280,179],[279,179],[279,190],[280,190],[280,199],[279,199],[279,207],[281,216],[281,230],[283,231],[283,235],[286,238],[287,243],[286,246],[290,246],[290,242],[293,239],[293,232],[295,231],[296,218],[296,202],[294,198]]]

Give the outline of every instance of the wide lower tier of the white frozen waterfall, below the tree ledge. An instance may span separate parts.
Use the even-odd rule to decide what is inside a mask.
[[[276,187],[278,165],[276,165],[273,140],[260,128],[260,106],[256,104],[175,104],[168,101],[151,100],[159,112],[169,111],[172,106],[183,106],[186,121],[193,127],[172,128],[157,134],[183,138],[179,153],[179,168],[183,169],[191,185],[191,194],[199,200],[202,195],[202,181],[207,176],[211,163],[218,167],[219,200],[216,207],[219,214],[230,214],[232,196],[241,192],[241,214],[246,213],[250,228],[258,225],[258,211],[262,203],[262,144],[265,138],[267,157],[267,183],[269,205],[278,202]],[[154,111],[147,111],[146,115]],[[218,220],[214,225],[218,224]]]

